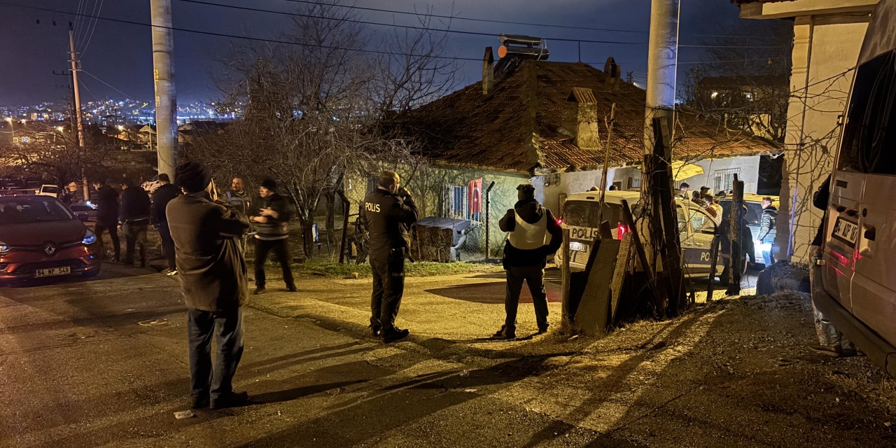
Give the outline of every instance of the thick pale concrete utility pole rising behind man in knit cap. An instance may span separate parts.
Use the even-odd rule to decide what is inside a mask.
[[[152,78],[156,86],[156,149],[159,174],[174,179],[177,166],[177,99],[174,90],[174,34],[171,0],[150,0],[152,14]]]

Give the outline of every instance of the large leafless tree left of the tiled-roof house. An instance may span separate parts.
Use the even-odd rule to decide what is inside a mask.
[[[225,103],[245,105],[243,116],[190,157],[220,174],[276,179],[296,207],[310,256],[322,199],[339,195],[347,210],[347,178],[366,178],[382,164],[419,164],[416,142],[395,132],[392,120],[451,89],[453,68],[436,56],[444,39],[435,31],[393,34],[375,45],[378,35],[336,4],[299,10],[279,39],[291,44],[234,47],[222,57]]]

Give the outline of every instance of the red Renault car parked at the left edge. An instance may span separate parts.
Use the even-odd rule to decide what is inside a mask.
[[[99,245],[54,197],[0,196],[0,283],[99,274]]]

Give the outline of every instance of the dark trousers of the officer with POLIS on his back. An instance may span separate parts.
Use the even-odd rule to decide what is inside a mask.
[[[374,292],[370,295],[370,326],[389,332],[404,295],[404,249],[392,249],[387,260],[371,257]]]

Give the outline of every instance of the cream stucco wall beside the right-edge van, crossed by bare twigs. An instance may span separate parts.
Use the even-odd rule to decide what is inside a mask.
[[[821,222],[812,194],[830,173],[866,17],[797,17],[775,255],[806,262]],[[808,86],[808,87],[806,87]]]

